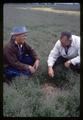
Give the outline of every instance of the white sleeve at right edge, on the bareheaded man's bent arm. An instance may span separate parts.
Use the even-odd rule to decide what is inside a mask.
[[[78,55],[75,58],[71,59],[71,63],[73,65],[76,65],[76,64],[80,63],[80,37],[77,37],[76,41],[77,41],[76,42],[76,47],[78,49]]]

